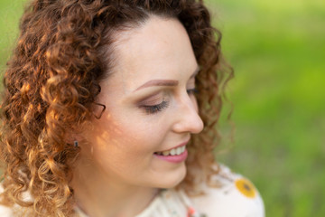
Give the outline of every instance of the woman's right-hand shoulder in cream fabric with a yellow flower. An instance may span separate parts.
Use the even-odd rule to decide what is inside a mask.
[[[265,216],[260,193],[244,176],[233,173],[226,165],[219,165],[219,173],[212,181],[218,186],[203,184],[205,194],[190,198],[200,212],[209,217]]]

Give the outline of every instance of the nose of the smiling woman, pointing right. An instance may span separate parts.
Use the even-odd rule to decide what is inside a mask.
[[[198,105],[194,97],[191,99],[187,95],[187,97],[182,98],[174,117],[175,122],[172,130],[176,133],[198,134],[203,129],[203,121],[199,116]]]

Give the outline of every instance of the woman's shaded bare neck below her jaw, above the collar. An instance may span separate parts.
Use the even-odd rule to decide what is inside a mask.
[[[82,164],[76,167],[71,185],[79,209],[90,217],[134,217],[158,193],[155,188],[126,184]]]

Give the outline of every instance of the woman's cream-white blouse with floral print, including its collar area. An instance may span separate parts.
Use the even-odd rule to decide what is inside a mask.
[[[202,186],[205,194],[189,197],[181,190],[163,189],[153,202],[135,217],[265,217],[263,200],[255,186],[225,166],[213,177],[219,187]],[[78,207],[79,217],[88,217]],[[16,217],[0,205],[1,217]]]

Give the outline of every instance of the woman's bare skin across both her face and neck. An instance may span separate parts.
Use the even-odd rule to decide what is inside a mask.
[[[96,217],[135,216],[158,189],[180,184],[185,162],[153,153],[203,128],[191,91],[198,63],[181,23],[152,16],[116,40],[116,65],[98,95],[107,109],[85,130],[72,181],[79,207]],[[157,104],[162,108],[153,109]]]

